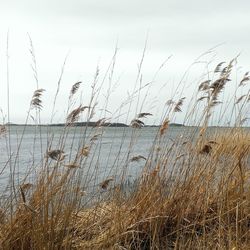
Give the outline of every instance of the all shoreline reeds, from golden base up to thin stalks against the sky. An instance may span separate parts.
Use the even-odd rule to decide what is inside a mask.
[[[99,162],[105,147],[101,143],[102,127],[111,123],[106,123],[105,116],[98,124],[92,123],[100,86],[105,82],[105,78],[98,80],[99,70],[86,106],[74,105],[81,82],[73,84],[56,145],[52,130],[43,144],[40,114],[44,90],[37,87],[34,91],[25,125],[35,111],[34,120],[41,126],[34,130],[33,146],[38,147],[40,158],[39,164],[35,164],[35,153],[30,155],[27,175],[22,179],[18,178],[18,170],[25,125],[17,151],[13,151],[8,125],[1,126],[1,143],[6,144],[8,160],[0,166],[0,176],[8,171],[9,182],[0,198],[0,249],[249,249],[250,130],[244,128],[249,124],[249,73],[240,80],[238,75],[232,80],[237,58],[216,67],[207,63],[207,74],[197,84],[190,104],[177,91],[181,89],[178,85],[173,91],[176,97],[166,100],[162,107],[153,146],[149,152],[138,155],[134,148],[140,128],[145,126],[144,119],[152,115],[140,111],[144,108],[140,80],[144,53],[134,93],[125,102],[126,112],[133,110],[136,115],[124,124],[114,123],[122,127],[129,124],[132,129],[126,157],[121,157],[124,140],[128,139],[124,133],[120,145],[115,146],[118,153],[111,164],[108,159],[113,151],[106,153],[105,168],[100,169]],[[108,75],[108,86],[114,74],[115,56],[104,76]],[[228,88],[232,90],[232,82],[235,92],[226,92]],[[59,87],[60,84],[54,105]],[[147,96],[147,92],[144,94]],[[183,124],[185,127],[194,124],[196,133],[180,133],[170,142],[167,138],[171,121],[175,121],[185,105]],[[107,106],[105,103],[102,108]],[[52,117],[54,110],[55,107]],[[217,120],[222,122],[225,114],[231,126],[225,131],[215,129],[208,133],[214,117],[219,116]],[[69,129],[75,125],[80,126],[81,133],[71,134],[71,147],[66,149]],[[95,127],[88,131],[90,125]],[[140,172],[133,183],[128,183],[128,170],[136,164],[140,164]],[[105,176],[102,180],[100,173]],[[30,178],[31,175],[35,177]]]

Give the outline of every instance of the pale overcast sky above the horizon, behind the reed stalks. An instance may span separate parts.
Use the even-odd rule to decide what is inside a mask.
[[[203,61],[211,60],[211,64],[216,65],[240,53],[239,74],[250,69],[249,9],[250,1],[247,0],[0,0],[1,116],[8,119],[8,75],[9,119],[15,123],[25,121],[32,94],[37,88],[31,68],[34,65],[30,53],[31,38],[38,87],[46,90],[42,96],[43,123],[50,122],[51,116],[53,122],[64,121],[69,91],[77,81],[82,84],[74,99],[75,106],[80,101],[88,105],[96,68],[100,71],[100,86],[116,48],[114,72],[111,77],[109,71],[101,85],[93,119],[113,113],[112,119],[119,117],[119,121],[127,122],[126,109],[117,110],[140,86],[136,79],[145,47],[141,86],[151,85],[143,88],[141,96],[136,97],[139,104],[132,105],[129,119],[139,111],[151,112],[153,116],[148,122],[157,123],[162,117],[161,107],[169,98],[174,95],[176,98],[192,97],[199,77],[204,73]],[[199,58],[210,48],[213,48],[212,53]],[[65,58],[53,113],[54,96]],[[200,63],[190,67],[197,58]],[[105,105],[111,78],[112,91]],[[175,91],[180,81],[185,86]],[[108,113],[102,113],[102,107]],[[176,120],[181,122],[183,118],[184,114],[179,114]]]

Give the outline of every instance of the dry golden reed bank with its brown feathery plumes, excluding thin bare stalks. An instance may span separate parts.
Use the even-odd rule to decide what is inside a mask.
[[[20,186],[13,185],[12,198],[2,202],[0,247],[248,249],[250,134],[238,117],[249,106],[249,92],[240,100],[240,108],[239,100],[235,101],[234,107],[239,110],[235,126],[226,132],[214,129],[208,133],[209,119],[231,74],[232,61],[225,68],[220,67],[215,69],[215,73],[219,72],[215,80],[199,85],[199,99],[204,97],[205,105],[193,137],[183,140],[180,135],[171,147],[166,145],[171,117],[183,105],[184,99],[180,98],[168,102],[148,156],[133,156],[128,150],[128,158],[120,168],[126,169],[131,161],[145,161],[141,174],[130,184],[134,186],[127,187],[132,190],[129,193],[124,185],[125,170],[119,178],[107,177],[96,183],[99,188],[91,194],[83,189],[83,171],[94,167],[86,166],[86,159],[101,135],[96,132],[89,141],[80,141],[77,152],[70,153],[71,161],[65,163],[63,145],[68,128],[86,110],[91,118],[93,105],[69,110],[58,148],[46,149],[36,182],[24,180]],[[73,86],[71,95],[78,88],[79,83]],[[42,92],[36,90],[32,98],[31,105],[38,109]],[[140,113],[131,122],[134,133],[143,126],[142,119],[147,115],[150,114]],[[104,121],[98,122],[98,131]]]

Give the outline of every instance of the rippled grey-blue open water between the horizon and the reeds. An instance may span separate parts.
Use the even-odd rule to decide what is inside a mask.
[[[192,127],[170,127],[163,143],[171,146],[177,138],[190,139],[195,130]],[[48,148],[59,149],[60,145],[64,145],[67,164],[72,161],[79,146],[90,145],[91,138],[92,141],[96,140],[85,164],[88,167],[82,170],[83,175],[92,175],[101,180],[119,175],[126,166],[127,176],[136,177],[145,162],[130,162],[129,158],[136,155],[147,157],[152,147],[157,145],[157,131],[156,127],[136,130],[129,127],[99,130],[73,127],[65,132],[63,127],[10,126],[6,136],[0,137],[0,187],[8,183],[10,168],[15,172],[16,184],[22,182],[28,171],[31,172],[28,180],[32,182],[41,170]]]

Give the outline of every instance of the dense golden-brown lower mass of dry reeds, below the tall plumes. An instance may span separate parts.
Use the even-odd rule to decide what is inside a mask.
[[[236,138],[238,146],[231,151],[231,158],[221,162],[220,157],[228,153],[224,149],[235,145]],[[79,206],[84,194],[69,185],[74,169],[61,176],[51,174],[48,180],[43,177],[32,188],[28,201],[24,200],[26,194],[20,198],[12,223],[2,215],[3,249],[247,246],[249,138],[249,133],[238,130],[235,134],[231,131],[230,137],[218,136],[220,142],[213,144],[211,152],[191,151],[182,176],[175,176],[174,181],[165,171],[169,166],[160,163],[143,173],[136,191],[129,197],[124,197],[117,185],[109,190],[107,201],[90,208]],[[184,176],[185,179],[181,178]],[[69,201],[66,193],[75,199]]]

